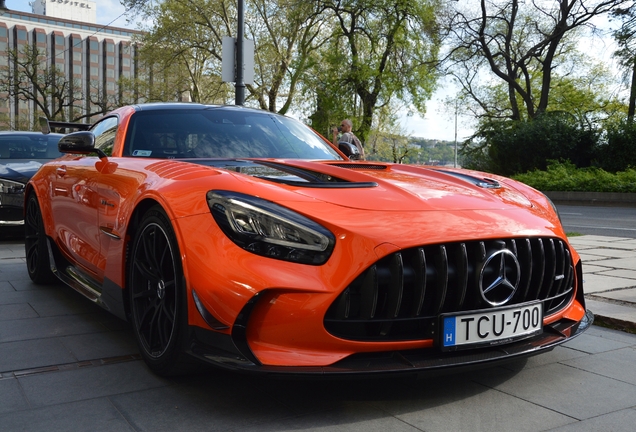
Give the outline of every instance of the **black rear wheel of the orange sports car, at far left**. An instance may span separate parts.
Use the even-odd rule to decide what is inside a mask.
[[[57,281],[51,271],[49,249],[42,221],[42,211],[35,192],[31,192],[26,203],[24,218],[24,250],[27,271],[31,280],[37,284],[49,284]]]

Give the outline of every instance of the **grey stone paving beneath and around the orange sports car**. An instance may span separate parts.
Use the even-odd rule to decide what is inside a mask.
[[[572,238],[590,309],[636,322],[636,239]],[[616,312],[615,312],[616,311]],[[621,313],[623,315],[621,315]],[[541,355],[439,377],[159,378],[127,323],[30,282],[0,240],[0,431],[633,431],[636,335],[592,326]]]

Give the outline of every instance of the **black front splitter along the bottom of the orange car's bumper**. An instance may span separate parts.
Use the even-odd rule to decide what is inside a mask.
[[[593,322],[594,315],[588,310],[579,322],[561,319],[546,325],[539,335],[510,344],[446,353],[437,348],[424,348],[354,354],[332,365],[321,367],[259,365],[250,359],[253,359],[251,353],[245,352],[244,345],[240,340],[240,332],[233,332],[234,336],[230,336],[194,328],[189,353],[204,362],[222,368],[275,375],[319,376],[434,372],[492,366],[550,351],[583,333]]]

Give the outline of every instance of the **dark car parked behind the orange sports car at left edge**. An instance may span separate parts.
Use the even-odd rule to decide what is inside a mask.
[[[0,132],[0,227],[24,223],[24,188],[44,162],[62,156],[62,134]]]

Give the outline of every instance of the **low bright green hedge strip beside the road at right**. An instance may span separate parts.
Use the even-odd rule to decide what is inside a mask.
[[[634,169],[612,174],[600,168],[577,168],[569,162],[549,162],[546,170],[533,170],[512,178],[541,191],[636,192]]]

